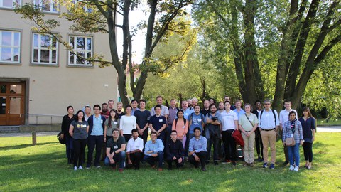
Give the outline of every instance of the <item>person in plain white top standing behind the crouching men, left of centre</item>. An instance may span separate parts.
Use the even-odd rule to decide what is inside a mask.
[[[119,129],[121,129],[121,133],[123,132],[126,142],[131,138],[131,130],[136,129],[136,117],[131,115],[132,109],[130,105],[126,106],[126,114],[119,120]]]

